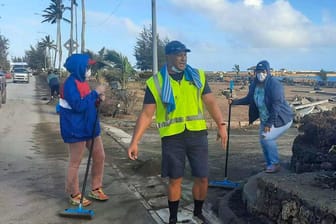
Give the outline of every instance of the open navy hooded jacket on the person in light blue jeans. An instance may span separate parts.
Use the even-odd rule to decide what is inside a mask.
[[[288,105],[284,88],[282,84],[271,75],[271,70],[268,61],[260,61],[256,66],[256,71],[266,70],[267,77],[265,79],[265,104],[269,112],[269,118],[266,122],[267,127],[281,127],[293,120],[293,111]],[[252,124],[259,118],[259,111],[254,102],[254,91],[258,83],[258,79],[255,77],[251,85],[249,86],[248,94],[241,98],[234,100],[232,105],[249,105],[249,123]]]

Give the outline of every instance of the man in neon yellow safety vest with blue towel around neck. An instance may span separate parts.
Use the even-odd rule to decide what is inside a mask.
[[[177,223],[186,157],[195,177],[194,219],[207,223],[202,214],[208,190],[208,139],[203,104],[217,124],[224,149],[227,141],[224,119],[205,73],[187,64],[187,52],[190,50],[179,41],[165,46],[166,64],[146,82],[143,109],[128,148],[128,157],[136,160],[138,143],[155,115],[162,144],[161,176],[169,178],[170,224]]]

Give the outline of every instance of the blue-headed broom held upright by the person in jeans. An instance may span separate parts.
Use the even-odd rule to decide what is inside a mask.
[[[232,90],[233,90],[233,80],[230,80],[230,98],[232,98]],[[228,118],[228,140],[226,143],[226,155],[225,155],[225,178],[224,180],[221,181],[209,181],[209,187],[222,187],[222,188],[228,188],[228,189],[233,189],[239,186],[238,183],[232,182],[228,180],[227,177],[227,170],[228,170],[228,161],[229,161],[229,146],[230,146],[230,125],[231,125],[231,103],[229,104],[229,118]]]

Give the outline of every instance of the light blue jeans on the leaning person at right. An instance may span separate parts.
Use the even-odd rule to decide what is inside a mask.
[[[276,140],[292,125],[293,121],[288,122],[286,125],[275,128],[273,125],[271,130],[267,133],[264,132],[264,125],[260,124],[259,127],[259,140],[266,160],[266,165],[271,166],[278,164],[279,154]]]

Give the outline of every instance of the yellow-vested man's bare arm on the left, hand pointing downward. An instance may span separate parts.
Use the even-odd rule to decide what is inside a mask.
[[[130,146],[128,147],[128,157],[131,160],[136,160],[138,158],[138,143],[141,140],[146,129],[152,123],[152,118],[156,110],[155,104],[144,104],[142,111],[137,119],[132,140]]]

